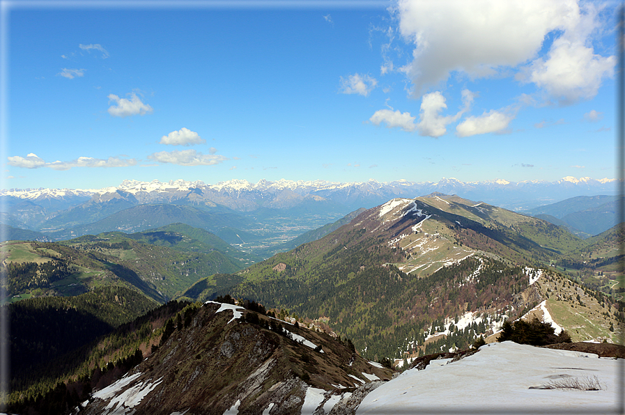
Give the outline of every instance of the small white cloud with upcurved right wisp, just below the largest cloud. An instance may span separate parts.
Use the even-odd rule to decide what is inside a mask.
[[[440,91],[423,96],[419,113],[419,123],[415,123],[415,116],[409,112],[380,109],[373,113],[369,121],[375,125],[385,123],[388,128],[399,127],[406,132],[418,131],[422,136],[440,137],[447,132],[447,125],[454,123],[468,111],[474,98],[474,93],[465,89],[462,91],[463,107],[453,116],[442,116],[441,112],[447,109],[445,97]]]

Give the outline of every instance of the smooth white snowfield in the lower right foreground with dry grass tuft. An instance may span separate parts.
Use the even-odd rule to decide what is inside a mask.
[[[590,353],[490,343],[454,363],[431,361],[425,370],[406,370],[371,391],[356,414],[614,414],[623,363]],[[593,377],[601,390],[539,389]]]

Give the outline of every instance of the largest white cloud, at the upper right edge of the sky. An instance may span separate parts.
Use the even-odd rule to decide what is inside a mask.
[[[596,95],[612,75],[614,56],[594,54],[590,36],[600,26],[596,6],[568,0],[400,0],[399,32],[411,45],[412,61],[401,70],[420,95],[452,72],[471,78],[516,71],[560,104]],[[553,38],[547,56],[543,42]]]

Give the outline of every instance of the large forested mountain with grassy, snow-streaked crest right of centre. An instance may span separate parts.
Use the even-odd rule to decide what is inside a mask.
[[[457,196],[394,199],[229,279],[201,280],[184,296],[229,292],[323,316],[369,359],[398,357],[409,343],[424,345],[424,333],[446,317],[486,313],[486,333],[532,308],[538,297],[525,292],[529,276],[514,263],[540,265],[569,244],[582,242],[539,219]],[[456,347],[474,335],[458,333]]]

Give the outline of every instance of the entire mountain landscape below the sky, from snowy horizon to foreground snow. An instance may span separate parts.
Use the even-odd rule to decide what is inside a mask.
[[[521,412],[610,412],[625,357],[615,185],[4,190],[3,410],[462,413],[439,389],[469,370],[474,412],[501,385]]]

